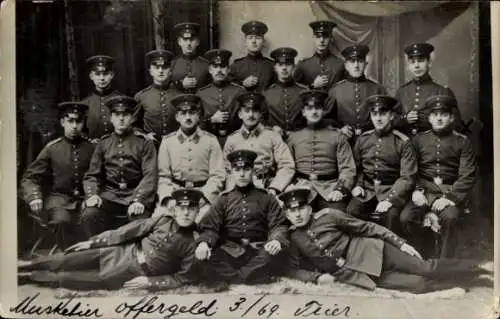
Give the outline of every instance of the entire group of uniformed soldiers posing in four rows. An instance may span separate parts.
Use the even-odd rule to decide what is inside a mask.
[[[64,253],[20,261],[20,278],[166,289],[290,276],[424,292],[484,272],[452,258],[476,163],[452,91],[429,75],[433,46],[405,49],[414,78],[391,97],[364,75],[368,47],[341,60],[335,24],[310,26],[316,53],[296,64],[293,48],[264,57],[268,28],[249,21],[248,55],[230,64],[228,50],[199,56],[199,25],[180,23],[182,55],[147,53],[153,83],[134,98],[113,90],[113,58],[89,58],[95,91],[59,104],[64,136],[21,182]],[[439,258],[424,260],[431,233]]]

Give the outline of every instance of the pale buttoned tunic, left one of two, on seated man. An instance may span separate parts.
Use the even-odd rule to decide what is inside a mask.
[[[160,204],[182,182],[205,182],[199,187],[205,198],[212,203],[224,187],[224,161],[217,138],[197,129],[186,136],[180,129],[165,137],[158,152],[158,197]]]

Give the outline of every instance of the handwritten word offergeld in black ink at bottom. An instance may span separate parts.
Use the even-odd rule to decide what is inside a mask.
[[[207,305],[204,305],[202,300],[198,300],[190,306],[180,306],[178,304],[166,305],[163,302],[156,304],[157,300],[157,296],[148,296],[136,303],[129,304],[127,302],[122,302],[115,308],[115,312],[123,314],[123,318],[133,315],[133,319],[136,319],[142,313],[159,313],[163,314],[164,318],[172,318],[175,315],[183,313],[211,317],[217,312],[217,299],[213,299]]]

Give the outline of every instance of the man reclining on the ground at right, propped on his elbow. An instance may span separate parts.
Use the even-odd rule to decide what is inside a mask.
[[[389,229],[339,210],[327,208],[313,214],[310,195],[308,189],[280,195],[292,224],[292,278],[424,293],[455,287],[457,279],[463,284],[489,273],[472,260],[422,260],[415,248]]]

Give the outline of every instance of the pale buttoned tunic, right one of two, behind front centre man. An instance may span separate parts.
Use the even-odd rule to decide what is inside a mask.
[[[249,132],[244,126],[231,134],[224,145],[224,158],[226,159],[226,170],[231,165],[227,161],[227,155],[237,149],[248,149],[257,153],[254,161],[254,169],[257,175],[269,179],[268,188],[274,188],[282,192],[291,182],[295,174],[295,163],[288,145],[283,141],[281,135],[273,130],[266,129],[259,124]],[[228,188],[233,188],[233,182],[229,182]],[[267,184],[267,183],[266,183]]]

